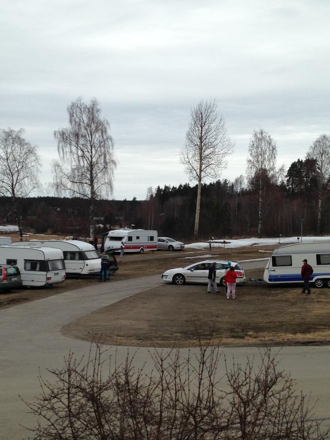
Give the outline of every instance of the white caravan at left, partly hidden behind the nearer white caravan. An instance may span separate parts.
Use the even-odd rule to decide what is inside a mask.
[[[101,258],[95,247],[80,240],[30,240],[28,242],[14,242],[11,246],[46,246],[61,249],[66,264],[66,273],[70,275],[95,274],[101,270]]]

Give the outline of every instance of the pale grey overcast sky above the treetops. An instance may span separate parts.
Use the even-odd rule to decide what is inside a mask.
[[[278,165],[330,134],[330,1],[0,0],[0,128],[39,146],[44,184],[66,108],[96,97],[118,166],[114,198],[188,181],[190,109],[218,102],[236,142],[220,178],[245,174],[249,138]],[[47,194],[47,193],[45,193]],[[50,193],[48,193],[51,195]]]

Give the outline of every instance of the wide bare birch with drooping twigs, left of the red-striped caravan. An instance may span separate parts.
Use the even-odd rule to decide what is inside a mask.
[[[110,124],[101,119],[96,99],[90,104],[81,98],[67,108],[69,127],[54,132],[59,160],[53,163],[53,182],[57,194],[88,198],[90,240],[94,238],[94,201],[107,197],[113,190],[113,140]]]

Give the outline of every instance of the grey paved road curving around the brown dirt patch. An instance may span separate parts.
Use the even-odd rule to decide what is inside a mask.
[[[19,395],[33,401],[39,395],[38,368],[49,378],[46,368],[63,366],[63,357],[69,350],[77,357],[86,354],[89,343],[67,338],[61,334],[64,325],[109,306],[142,290],[162,284],[159,275],[127,281],[110,281],[97,286],[86,287],[38,301],[0,310],[0,385],[1,415],[0,439],[21,440],[28,432],[20,424],[32,426],[36,420],[27,414],[27,408]],[[119,347],[118,359],[124,360],[127,348]],[[187,349],[182,349],[187,353]],[[227,357],[235,356],[245,363],[246,355],[258,355],[258,349],[225,348]],[[330,347],[283,347],[280,352],[280,367],[291,371],[297,380],[297,390],[313,391],[318,398],[317,415],[328,417],[330,408],[329,365]],[[148,364],[148,350],[141,348],[134,362]],[[329,420],[327,421],[328,426]]]

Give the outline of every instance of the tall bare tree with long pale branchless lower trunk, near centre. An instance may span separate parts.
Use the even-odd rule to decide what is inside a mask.
[[[196,217],[194,237],[198,236],[200,194],[203,179],[216,178],[227,165],[226,157],[233,151],[225,121],[217,113],[216,101],[199,101],[191,110],[186,143],[181,150],[180,162],[190,180],[197,180]]]

